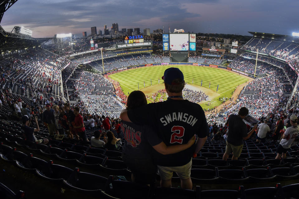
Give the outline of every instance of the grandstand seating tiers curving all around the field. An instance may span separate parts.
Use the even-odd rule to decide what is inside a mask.
[[[0,7],[4,13],[16,1],[2,2]],[[212,140],[211,132],[197,157],[192,159],[194,190],[161,188],[158,183],[148,187],[130,182],[131,171],[121,158],[122,146],[107,150],[96,148],[89,141],[67,137],[58,140],[50,135],[41,112],[45,104],[62,107],[63,103],[70,102],[71,107],[80,107],[85,122],[88,116],[94,118],[96,129],[101,129],[99,116],[102,115],[110,116],[113,124],[124,109],[126,94],[119,82],[108,75],[135,67],[175,64],[172,57],[154,54],[152,43],[143,48],[118,48],[117,45],[123,44],[115,44],[104,49],[102,56],[98,50],[88,52],[89,44],[85,40],[78,40],[73,55],[59,56],[40,47],[51,38],[9,33],[1,26],[0,31],[0,198],[298,197],[298,138],[288,149],[286,159],[275,159],[278,142],[271,137],[273,128],[266,142],[248,139],[244,141],[239,160],[231,160],[230,154],[228,161],[222,160],[226,142]],[[252,39],[227,67],[221,65],[225,60],[213,58],[213,55],[222,58],[223,53],[189,57],[184,63],[234,70],[250,77],[256,75],[238,93],[237,99],[225,100],[217,111],[205,110],[207,122],[213,128],[217,126],[222,134],[226,133],[229,115],[237,113],[242,106],[259,120],[270,118],[274,126],[279,116],[299,113],[298,38],[249,33]],[[99,73],[89,72],[86,67]],[[184,90],[184,96],[194,102],[208,99],[204,93],[188,89]],[[21,103],[24,109],[28,105],[32,117],[39,117],[40,131],[35,136],[49,139],[49,144],[26,140],[14,102]],[[94,131],[89,128],[92,127],[86,125],[86,134],[91,140]],[[124,132],[118,134],[115,129],[112,132],[124,143]],[[128,181],[118,180],[120,176]],[[173,186],[180,184],[176,174],[172,182]]]

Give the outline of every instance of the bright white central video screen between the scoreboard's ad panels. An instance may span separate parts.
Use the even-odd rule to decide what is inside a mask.
[[[169,34],[170,51],[189,50],[189,34]]]

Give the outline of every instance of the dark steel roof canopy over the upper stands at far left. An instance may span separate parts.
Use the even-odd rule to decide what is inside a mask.
[[[3,14],[10,8],[17,0],[0,0],[0,22]],[[16,33],[6,32],[0,26],[0,49],[1,52],[7,52],[11,50],[19,50],[28,47],[38,46],[49,41],[52,38],[33,38]]]

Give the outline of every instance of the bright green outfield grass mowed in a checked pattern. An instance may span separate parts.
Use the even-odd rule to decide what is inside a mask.
[[[152,80],[152,85],[158,84],[158,78],[160,78],[160,84],[163,84],[164,81],[161,77],[163,76],[164,71],[169,67],[178,67],[183,72],[185,82],[188,84],[192,84],[192,79],[194,78],[193,84],[200,86],[202,81],[202,86],[209,88],[209,83],[211,82],[210,89],[215,92],[217,90],[217,85],[219,84],[217,92],[219,96],[211,99],[211,105],[207,106],[207,103],[201,103],[202,108],[206,109],[220,105],[220,96],[230,98],[232,91],[234,91],[236,86],[249,80],[249,78],[219,68],[198,67],[192,65],[142,67],[115,73],[110,75],[110,77],[118,81],[123,92],[128,95],[128,92],[130,93],[133,90],[138,90],[138,83],[139,89],[144,88],[143,81],[145,81],[145,87],[151,86],[150,79]]]

